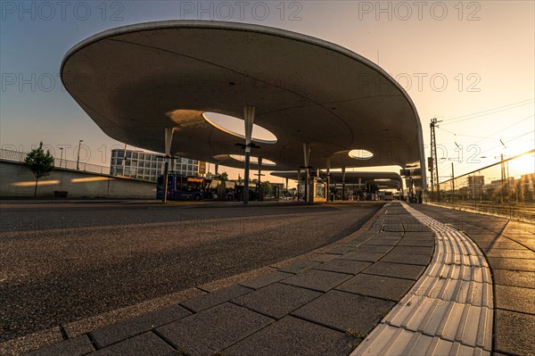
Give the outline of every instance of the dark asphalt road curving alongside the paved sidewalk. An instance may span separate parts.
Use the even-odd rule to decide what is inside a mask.
[[[0,204],[0,342],[308,253],[381,204]]]

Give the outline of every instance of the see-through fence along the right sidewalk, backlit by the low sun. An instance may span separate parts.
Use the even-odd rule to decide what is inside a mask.
[[[535,150],[428,188],[424,203],[535,221]]]

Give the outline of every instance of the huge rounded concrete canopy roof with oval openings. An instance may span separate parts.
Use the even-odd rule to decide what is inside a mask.
[[[243,154],[203,112],[243,118],[276,144],[252,155],[277,170],[399,165],[423,184],[422,128],[403,88],[366,58],[323,40],[282,29],[220,21],[161,21],[106,30],[74,46],[62,62],[70,95],[108,136],[164,152],[164,128],[175,128],[171,153],[202,161]],[[254,133],[253,133],[254,135]],[[350,150],[374,153],[351,158]],[[241,168],[243,163],[222,164]]]

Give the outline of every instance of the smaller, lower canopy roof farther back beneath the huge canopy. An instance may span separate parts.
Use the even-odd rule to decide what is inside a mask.
[[[321,175],[323,176],[326,172],[322,171]],[[341,185],[342,184],[342,172],[331,170],[331,184]],[[272,176],[279,178],[288,178],[297,180],[297,170],[290,171],[275,171],[271,172]],[[304,175],[304,172],[301,171],[301,176]],[[394,172],[355,172],[355,171],[346,171],[345,172],[345,183],[346,185],[358,184],[358,180],[362,184],[366,182],[374,182],[379,187],[386,187],[392,189],[400,189],[403,187],[403,178],[399,176],[398,173]]]

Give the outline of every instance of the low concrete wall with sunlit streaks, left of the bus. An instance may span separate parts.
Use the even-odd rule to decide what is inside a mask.
[[[36,178],[21,162],[0,160],[0,196],[33,196]],[[39,179],[37,196],[53,197],[54,190],[69,191],[70,198],[156,199],[156,183],[77,170],[54,169]]]

